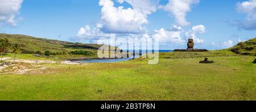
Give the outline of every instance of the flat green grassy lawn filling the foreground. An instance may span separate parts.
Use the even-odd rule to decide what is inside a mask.
[[[0,75],[0,100],[256,100],[255,56],[210,57],[214,64],[166,56],[175,55],[162,53],[157,65],[45,64],[43,73]]]

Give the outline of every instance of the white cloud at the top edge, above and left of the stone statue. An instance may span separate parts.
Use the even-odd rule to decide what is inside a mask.
[[[191,11],[194,4],[199,3],[200,0],[169,0],[163,9],[175,16],[177,24],[180,26],[188,26],[190,23],[186,20],[186,15]]]

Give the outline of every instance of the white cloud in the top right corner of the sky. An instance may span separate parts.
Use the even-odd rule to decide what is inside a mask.
[[[237,21],[235,24],[245,30],[256,30],[256,0],[237,3],[237,11],[245,13],[245,22]]]

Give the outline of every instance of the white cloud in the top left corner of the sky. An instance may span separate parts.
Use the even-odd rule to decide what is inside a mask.
[[[0,0],[0,27],[4,24],[16,26],[15,16],[19,13],[22,2],[23,0]]]

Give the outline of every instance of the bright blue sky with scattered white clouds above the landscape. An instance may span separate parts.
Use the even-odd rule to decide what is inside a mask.
[[[5,2],[6,0],[0,1]],[[197,48],[221,49],[256,37],[256,26],[251,25],[256,25],[255,0],[183,0],[190,3],[187,7],[189,11],[181,11],[181,13],[179,11],[183,9],[172,4],[176,0],[161,0],[159,2],[148,0],[151,2],[150,5],[155,6],[155,9],[143,10],[137,10],[141,9],[140,5],[138,3],[136,4],[136,2],[129,2],[129,0],[124,2],[122,0],[113,0],[114,6],[105,3],[110,0],[102,0],[104,1],[104,3],[102,2],[104,5],[102,4],[101,6],[98,0],[11,1],[20,2],[18,10],[10,11],[9,14],[15,15],[13,19],[15,24],[7,22],[7,19],[0,19],[1,33],[24,34],[40,38],[83,43],[92,42],[90,40],[97,39],[97,36],[102,36],[110,32],[120,35],[131,34],[137,36],[147,34],[150,37],[158,36],[163,40],[163,43],[160,43],[160,49],[185,48],[188,38],[199,39],[197,41],[198,43],[196,43]],[[148,1],[145,0],[145,3]],[[170,4],[169,6],[167,5],[168,3]],[[246,3],[249,3],[252,10],[247,9],[247,6],[245,6]],[[102,11],[102,9],[105,7],[105,10],[108,10],[119,6],[123,6],[123,9],[130,7],[131,10],[136,12],[135,14],[142,14],[143,16],[139,16],[137,19],[143,20],[137,24],[119,20],[118,23],[121,25],[113,26],[111,24],[112,20],[108,20],[109,17],[107,17],[108,14],[112,13]],[[145,7],[147,6],[143,8]],[[176,7],[176,9],[172,7]],[[148,10],[150,13],[145,13],[144,10]],[[132,14],[133,11],[131,11]],[[5,12],[1,13],[0,9],[0,16],[2,14],[8,17],[9,15],[4,14]],[[176,15],[179,14],[185,14],[185,21],[179,22],[176,19]],[[106,18],[102,19],[102,16]],[[246,21],[246,18],[250,18],[247,16],[252,16],[252,19]],[[117,17],[122,19],[122,16]],[[189,24],[186,24],[186,22]],[[98,24],[101,24],[101,26],[98,27]],[[122,26],[122,24],[126,25]],[[81,31],[81,28],[82,31],[86,31],[86,25],[91,30],[93,28],[98,29],[99,32],[97,34],[94,33],[94,35],[92,33],[85,34],[85,32],[79,35],[78,32]],[[126,26],[129,26],[129,28],[126,28]],[[174,26],[176,28],[180,27],[182,30],[174,31]],[[142,27],[142,31],[137,32],[136,29],[133,29],[138,27]],[[192,27],[194,27],[194,30]],[[160,30],[162,28],[163,30]],[[93,30],[89,32],[93,32]],[[164,37],[161,32],[166,33],[168,37]],[[175,37],[168,39],[169,35]],[[179,39],[176,39],[176,36]]]

